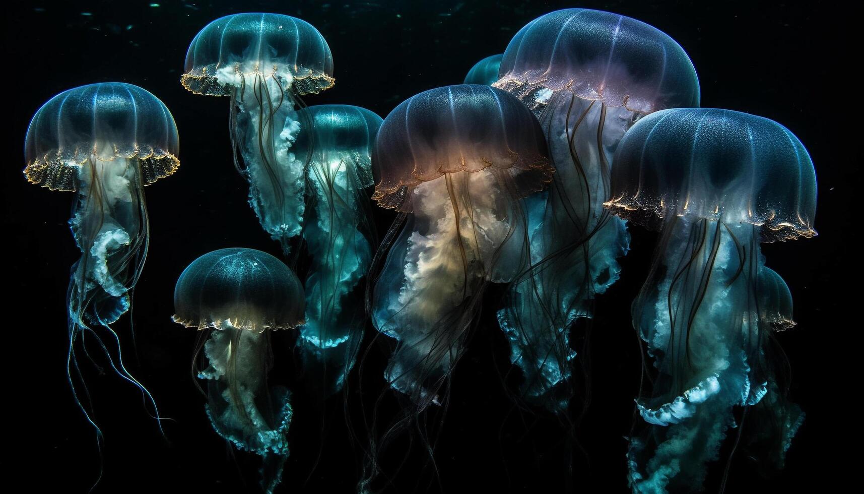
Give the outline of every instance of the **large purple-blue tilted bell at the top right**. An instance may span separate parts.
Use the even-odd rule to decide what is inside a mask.
[[[564,90],[643,114],[699,104],[696,71],[677,42],[645,22],[601,10],[556,10],[529,22],[507,46],[499,74],[498,86],[520,87],[519,93]]]

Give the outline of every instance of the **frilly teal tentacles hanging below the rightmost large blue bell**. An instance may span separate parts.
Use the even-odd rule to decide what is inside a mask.
[[[668,216],[660,245],[669,248],[658,251],[659,266],[633,303],[634,325],[660,371],[651,399],[638,401],[642,419],[658,427],[631,441],[636,492],[702,484],[727,430],[740,427],[733,407],[756,405],[766,393],[781,399],[759,363],[766,321],[758,309],[758,227]]]

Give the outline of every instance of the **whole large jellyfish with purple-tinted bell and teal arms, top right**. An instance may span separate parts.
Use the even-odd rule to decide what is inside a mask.
[[[656,110],[698,106],[688,56],[644,22],[598,10],[558,10],[513,37],[494,86],[537,115],[556,169],[548,194],[528,198],[532,266],[511,285],[499,323],[530,402],[562,412],[573,395],[569,327],[619,277],[625,222],[603,209],[615,147]]]

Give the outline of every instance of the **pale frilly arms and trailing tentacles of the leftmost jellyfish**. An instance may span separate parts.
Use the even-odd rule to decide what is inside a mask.
[[[85,386],[89,401],[89,392],[86,391],[75,356],[75,343],[79,341],[79,335],[89,332],[102,350],[110,369],[141,391],[145,409],[153,407],[152,413],[147,410],[148,414],[156,419],[160,433],[164,436],[162,416],[156,401],[149,390],[126,369],[118,334],[111,328],[111,324],[130,309],[130,293],[142,271],[148,246],[149,223],[146,206],[142,202],[143,183],[137,160],[115,157],[111,161],[104,161],[91,155],[78,167],[77,193],[69,225],[82,255],[73,266],[73,276],[67,290],[67,377],[74,400],[84,412],[86,420],[96,427],[92,420],[92,408],[88,411],[88,407],[80,401],[72,375],[74,367],[79,384]],[[107,330],[116,347],[109,349],[91,324]],[[102,372],[102,366],[93,359],[83,337],[80,343],[86,356]],[[101,430],[96,428],[97,436],[101,438]]]

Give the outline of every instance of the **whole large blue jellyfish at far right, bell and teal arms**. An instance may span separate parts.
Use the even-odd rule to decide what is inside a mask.
[[[746,433],[735,406],[744,407],[740,421],[754,408],[756,433],[772,436],[759,441],[775,445],[766,461],[782,465],[803,420],[778,381],[772,341],[772,330],[791,325],[791,296],[759,242],[816,235],[816,174],[804,145],[746,113],[664,110],[621,141],[612,190],[615,215],[660,230],[632,305],[658,373],[638,399],[648,427],[630,441],[632,490],[696,490],[727,429]]]

